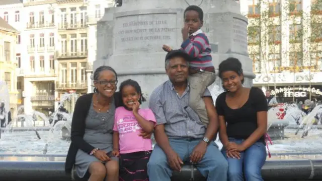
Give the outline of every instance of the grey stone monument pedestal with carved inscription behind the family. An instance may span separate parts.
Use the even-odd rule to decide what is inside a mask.
[[[97,60],[93,71],[102,65],[111,66],[120,82],[134,79],[149,96],[168,79],[162,45],[180,47],[188,4],[200,5],[204,11],[202,30],[212,45],[215,67],[227,57],[238,58],[243,64],[244,84],[252,86],[255,75],[247,53],[247,18],[232,0],[123,0],[122,7],[105,9],[97,25]]]

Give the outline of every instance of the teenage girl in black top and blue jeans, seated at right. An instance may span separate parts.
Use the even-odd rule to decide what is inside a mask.
[[[263,180],[268,111],[265,95],[257,87],[243,87],[243,69],[236,58],[220,63],[219,77],[226,90],[216,99],[216,109],[221,152],[228,161],[228,180]]]

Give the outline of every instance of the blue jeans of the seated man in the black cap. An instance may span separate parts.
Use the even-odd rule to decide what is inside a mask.
[[[190,161],[189,156],[201,139],[190,141],[188,139],[169,139],[171,148],[180,156],[183,162]],[[211,142],[205,155],[196,164],[200,173],[207,177],[208,181],[226,181],[228,164],[220,154],[217,145]],[[158,145],[154,146],[149,162],[147,174],[152,181],[170,181],[173,170],[170,168],[167,155]]]

